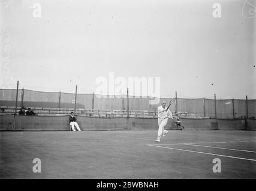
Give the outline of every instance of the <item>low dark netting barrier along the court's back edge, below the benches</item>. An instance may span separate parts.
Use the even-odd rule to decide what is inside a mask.
[[[0,115],[0,130],[16,131],[70,131],[69,116],[16,116]],[[180,119],[186,130],[255,130],[256,120],[247,119]],[[157,119],[143,118],[91,118],[77,116],[81,130],[157,130]],[[215,125],[218,124],[218,125]],[[214,127],[213,127],[214,126]],[[167,129],[177,129],[173,121],[168,120]]]

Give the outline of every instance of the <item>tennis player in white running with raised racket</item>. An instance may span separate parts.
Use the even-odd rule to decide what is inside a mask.
[[[165,125],[168,122],[168,118],[173,119],[173,115],[171,111],[167,107],[165,107],[166,102],[162,101],[162,105],[158,107],[158,133],[157,133],[157,138],[156,142],[160,142],[161,135],[164,137],[167,135],[168,131],[164,130]]]

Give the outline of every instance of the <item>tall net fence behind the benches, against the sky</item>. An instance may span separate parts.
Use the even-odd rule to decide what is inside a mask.
[[[156,111],[164,100],[167,105],[172,98],[135,96],[106,96],[99,94],[73,94],[32,90],[18,91],[18,107],[74,108],[85,110],[147,110]],[[129,102],[129,104],[128,104]],[[16,90],[0,90],[0,106],[16,105]],[[255,118],[256,100],[214,100],[206,98],[177,98],[170,106],[171,112],[190,113],[219,119]]]

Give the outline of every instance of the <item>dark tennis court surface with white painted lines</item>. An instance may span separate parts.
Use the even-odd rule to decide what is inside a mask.
[[[255,131],[170,130],[155,139],[156,130],[2,131],[0,178],[256,178]]]

